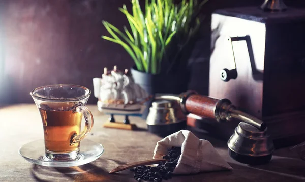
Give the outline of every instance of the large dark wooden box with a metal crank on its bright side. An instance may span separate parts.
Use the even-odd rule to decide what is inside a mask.
[[[214,12],[209,70],[209,96],[265,121],[277,148],[305,141],[305,9],[282,5]],[[236,122],[210,130],[227,139]]]

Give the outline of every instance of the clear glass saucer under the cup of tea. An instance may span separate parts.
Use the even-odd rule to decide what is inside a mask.
[[[27,161],[48,167],[80,166],[98,159],[103,153],[103,145],[88,139],[83,139],[80,142],[80,154],[74,161],[52,161],[46,159],[43,139],[29,142],[19,149],[19,154]]]

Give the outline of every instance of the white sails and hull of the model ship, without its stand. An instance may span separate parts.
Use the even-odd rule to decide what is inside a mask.
[[[127,69],[123,73],[116,66],[109,71],[104,68],[102,78],[94,78],[93,84],[98,108],[104,113],[142,114],[145,110],[143,103],[150,98],[148,93],[134,82]]]

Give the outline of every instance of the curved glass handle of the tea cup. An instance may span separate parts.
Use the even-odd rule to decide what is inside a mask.
[[[77,142],[80,142],[82,139],[84,139],[85,136],[90,132],[90,130],[93,127],[93,116],[92,116],[91,111],[87,107],[85,107],[85,106],[77,106],[77,107],[75,107],[74,110],[75,110],[75,112],[82,113],[82,115],[85,118],[85,122],[86,123],[85,123],[85,127],[84,127],[83,131],[81,131],[79,135],[74,134],[72,136],[71,144],[70,145],[73,145],[73,144],[75,144]]]

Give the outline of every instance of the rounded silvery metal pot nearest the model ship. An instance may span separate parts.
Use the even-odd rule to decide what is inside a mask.
[[[187,117],[177,101],[156,100],[149,108],[146,124],[149,132],[166,136],[184,129]]]

